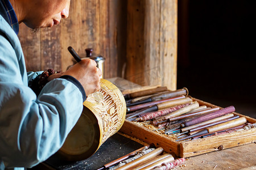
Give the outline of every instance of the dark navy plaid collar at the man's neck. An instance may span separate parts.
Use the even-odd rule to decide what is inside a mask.
[[[14,8],[11,5],[9,0],[1,0],[3,3],[3,6],[5,7],[5,11],[8,15],[9,21],[11,23],[11,28],[13,28],[14,32],[16,33],[16,35],[18,35],[19,33],[19,23],[18,23],[18,19],[17,16],[15,14]]]

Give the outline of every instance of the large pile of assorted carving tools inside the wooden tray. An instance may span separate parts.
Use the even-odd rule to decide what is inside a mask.
[[[127,95],[126,120],[150,126],[150,129],[168,135],[175,141],[230,133],[246,126],[246,118],[234,115],[233,106],[223,109],[200,106],[188,96],[185,87],[176,91],[158,87],[141,91],[139,95],[137,92],[134,98],[133,95]]]

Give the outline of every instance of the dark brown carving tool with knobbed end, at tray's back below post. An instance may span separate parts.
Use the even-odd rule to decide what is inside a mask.
[[[128,106],[132,106],[132,105],[138,105],[138,104],[148,103],[148,102],[151,102],[151,101],[163,100],[163,99],[168,99],[168,98],[171,98],[171,97],[182,96],[182,95],[184,95],[184,96],[188,95],[188,89],[187,88],[184,87],[184,88],[179,89],[179,90],[168,91],[168,92],[164,92],[163,94],[156,94],[156,95],[147,97],[146,99],[138,100],[138,101],[136,101],[134,103],[131,103],[129,105],[126,105],[126,106],[128,107]]]

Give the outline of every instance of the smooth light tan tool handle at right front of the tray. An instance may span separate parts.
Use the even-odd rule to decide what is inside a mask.
[[[214,125],[211,126],[209,128],[207,128],[208,133],[213,133],[215,131],[219,131],[219,130],[224,130],[224,129],[229,129],[229,128],[233,128],[236,126],[240,126],[243,125],[247,122],[245,117],[240,117],[240,118],[236,118],[232,121],[228,121],[228,122],[224,122],[222,124],[218,124],[218,125]]]

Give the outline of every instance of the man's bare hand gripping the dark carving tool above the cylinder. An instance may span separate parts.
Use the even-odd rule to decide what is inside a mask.
[[[97,63],[93,59],[84,58],[79,63],[70,67],[67,71],[60,74],[71,75],[76,78],[82,84],[82,87],[84,87],[86,95],[89,95],[101,88],[100,76],[102,75],[102,72],[96,66]]]

